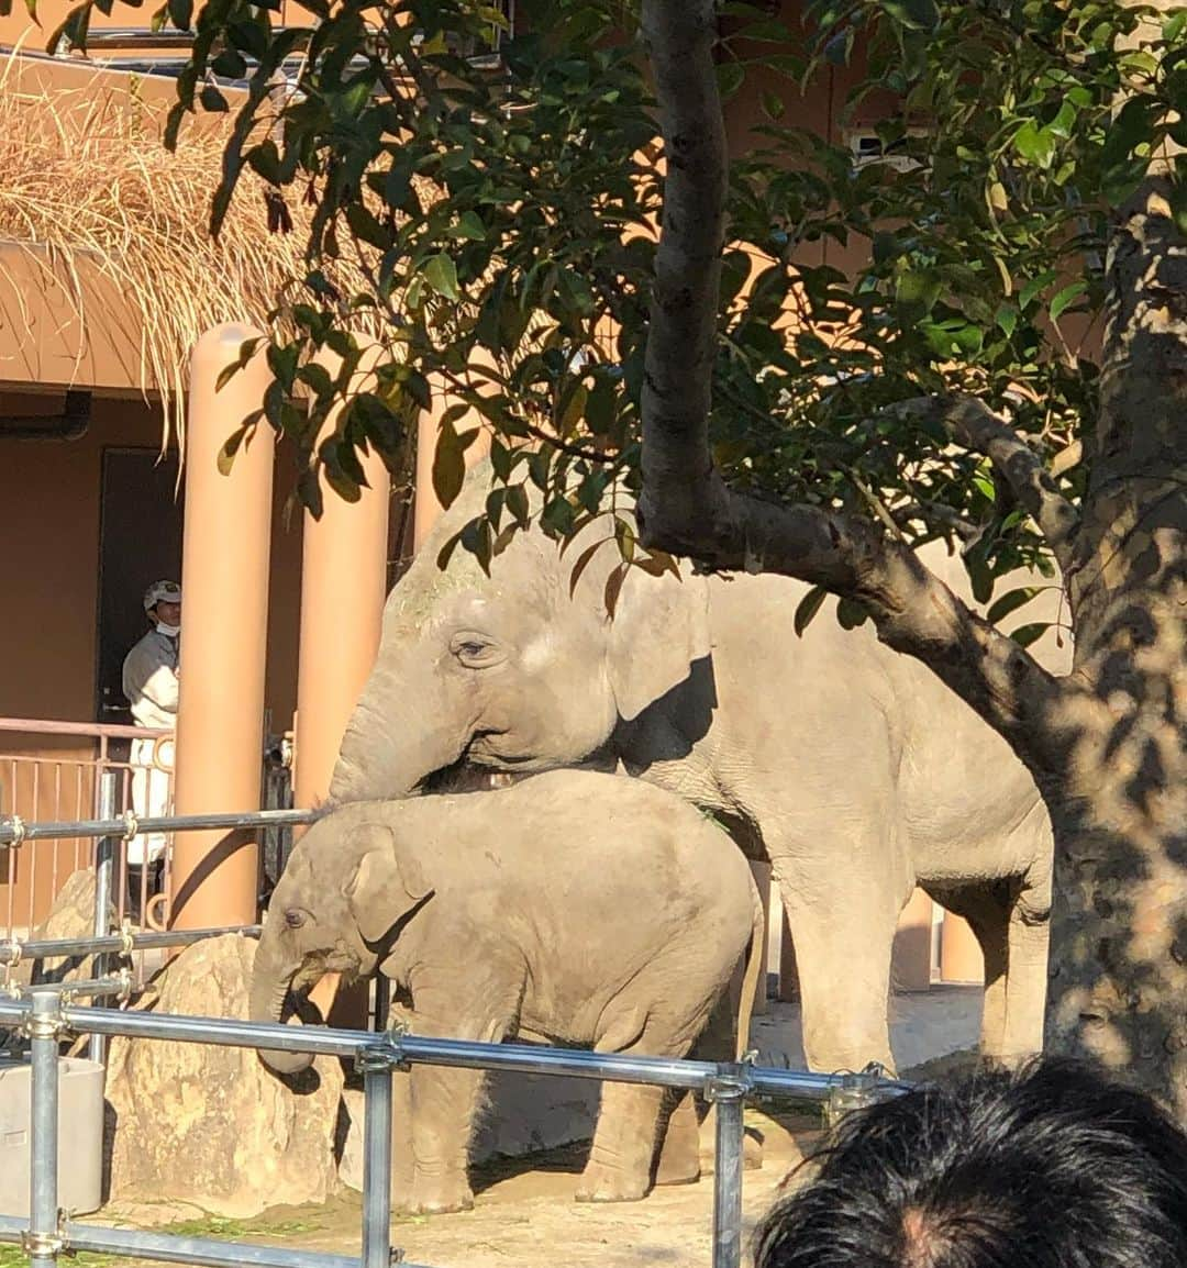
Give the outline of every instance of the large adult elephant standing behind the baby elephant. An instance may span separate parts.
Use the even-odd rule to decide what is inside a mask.
[[[1051,836],[1004,741],[867,625],[845,631],[824,610],[796,638],[807,587],[782,577],[632,569],[611,620],[614,545],[573,583],[605,521],[563,554],[520,533],[490,577],[460,548],[440,571],[490,479],[484,463],[469,473],[388,597],[331,800],[399,796],[462,762],[620,761],[770,858],[814,1069],[893,1066],[890,951],[916,884],[965,915],[984,950],[983,1050],[1037,1050]],[[966,587],[942,547],[928,562]]]

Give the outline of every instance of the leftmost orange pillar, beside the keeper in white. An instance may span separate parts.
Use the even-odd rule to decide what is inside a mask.
[[[260,408],[271,382],[263,356],[214,384],[243,340],[260,331],[217,326],[190,358],[181,550],[181,667],[174,804],[178,814],[260,809],[271,429],[261,422],[228,476],[218,453]],[[171,923],[194,929],[256,918],[259,843],[252,832],[179,832]]]

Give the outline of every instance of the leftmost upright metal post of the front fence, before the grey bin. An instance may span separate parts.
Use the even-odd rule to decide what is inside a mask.
[[[29,1036],[33,1049],[30,1093],[29,1232],[25,1250],[33,1268],[53,1268],[62,1240],[58,1234],[58,1035],[62,1002],[56,994],[33,995]]]

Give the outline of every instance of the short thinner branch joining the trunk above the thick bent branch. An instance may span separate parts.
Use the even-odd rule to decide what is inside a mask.
[[[1067,573],[1079,516],[1059,492],[1051,474],[1026,441],[976,397],[927,397],[893,406],[893,412],[940,424],[959,445],[984,454],[1012,489],[1018,505],[1039,525]]]

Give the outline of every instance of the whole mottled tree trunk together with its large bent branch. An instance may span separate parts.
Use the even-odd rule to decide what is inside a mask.
[[[909,403],[988,456],[1046,536],[1075,637],[1074,671],[1055,678],[879,525],[747,497],[714,470],[705,402],[725,146],[713,22],[713,0],[643,3],[668,155],[643,392],[643,541],[859,601],[884,643],[1009,742],[1055,831],[1049,1046],[1124,1069],[1187,1120],[1187,242],[1167,190],[1151,178],[1111,243],[1080,515],[983,403]]]

